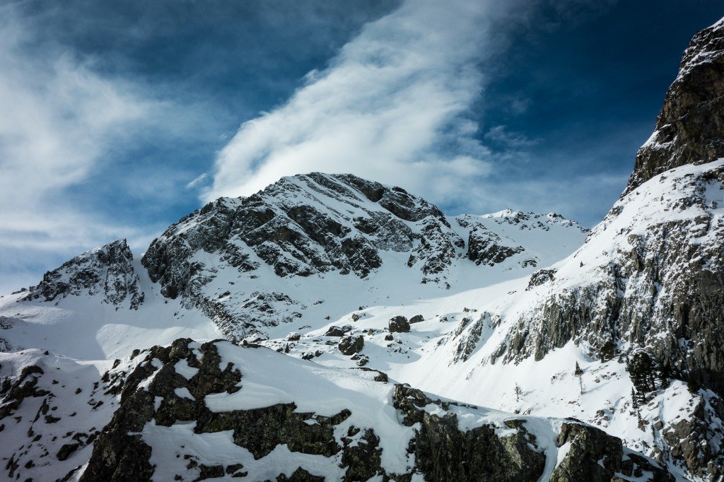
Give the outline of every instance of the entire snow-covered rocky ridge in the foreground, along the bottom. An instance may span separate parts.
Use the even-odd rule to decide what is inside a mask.
[[[500,413],[264,347],[178,339],[116,360],[95,381],[31,356],[2,387],[5,443],[22,444],[10,479],[674,480],[577,420]]]

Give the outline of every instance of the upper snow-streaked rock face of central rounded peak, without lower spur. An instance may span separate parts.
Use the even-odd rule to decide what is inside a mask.
[[[329,200],[350,211],[329,208]],[[351,212],[351,213],[350,213]],[[413,249],[422,231],[449,225],[438,208],[400,187],[387,187],[349,175],[312,173],[281,179],[248,198],[222,198],[181,219],[155,240],[143,258],[151,278],[169,297],[193,295],[190,282],[198,250],[221,253],[240,271],[261,261],[278,276],[310,276],[328,271],[365,277],[382,265],[379,250]],[[442,227],[441,227],[442,226]],[[430,246],[424,265],[447,247]],[[454,250],[453,250],[454,251]]]

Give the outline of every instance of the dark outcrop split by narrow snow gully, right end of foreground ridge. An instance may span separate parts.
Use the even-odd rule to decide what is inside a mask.
[[[455,410],[479,410],[478,407],[431,399],[400,384],[395,385],[392,399],[403,413],[403,423],[419,426],[409,449],[426,480],[538,481],[544,474],[544,447],[526,428],[525,418],[502,420],[502,433],[494,423],[464,430]],[[436,405],[435,413],[431,413],[428,407]],[[617,437],[583,423],[562,423],[557,447],[559,462],[551,481],[621,480],[617,475],[652,482],[674,480],[657,462],[625,449]]]

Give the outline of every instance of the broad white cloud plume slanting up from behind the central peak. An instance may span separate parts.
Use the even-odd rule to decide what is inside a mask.
[[[353,172],[434,201],[464,198],[491,169],[465,119],[515,2],[408,1],[371,22],[287,103],[245,122],[216,159],[205,200],[300,172]],[[501,6],[505,4],[505,6]],[[457,187],[452,189],[452,187]]]

